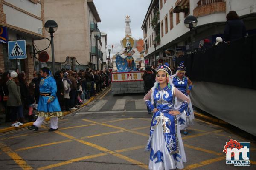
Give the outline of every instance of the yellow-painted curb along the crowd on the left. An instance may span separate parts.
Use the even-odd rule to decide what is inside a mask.
[[[101,94],[98,94],[98,96],[104,95],[105,92],[106,92],[109,88],[111,88],[111,85],[110,85],[108,88],[106,88],[104,91],[102,91]],[[107,91],[107,92],[108,92],[108,91]],[[87,102],[81,104],[81,105],[80,105],[80,108],[84,107],[85,105],[88,105],[88,104],[89,104],[90,102],[92,102],[96,97],[97,97],[97,96],[91,97]],[[76,109],[76,110],[74,109],[73,111],[69,111],[69,112],[68,112],[68,111],[64,111],[64,112],[62,112],[62,117],[63,117],[63,116],[66,116],[66,115],[68,115],[68,114],[71,114],[71,113],[73,113],[73,112],[75,112],[75,111],[78,111],[78,110],[79,110],[79,109]],[[49,117],[47,117],[46,119],[44,119],[45,122],[48,122],[49,120],[50,120]],[[20,127],[6,127],[6,128],[3,128],[3,129],[0,129],[0,133],[5,133],[5,132],[12,131],[12,130],[18,130],[18,129],[22,129],[22,128],[24,128],[24,127],[32,126],[33,123],[34,123],[34,122],[28,122],[28,123],[25,123],[24,125],[22,125],[22,126],[20,126]]]

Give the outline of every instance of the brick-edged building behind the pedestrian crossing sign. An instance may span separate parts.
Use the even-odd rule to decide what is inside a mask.
[[[0,68],[26,72],[27,80],[33,78],[33,41],[44,38],[44,0],[0,0],[0,27],[7,28],[7,41],[26,40],[26,59],[8,58],[7,43],[0,42]]]

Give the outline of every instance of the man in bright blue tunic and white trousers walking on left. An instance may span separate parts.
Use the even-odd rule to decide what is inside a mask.
[[[37,107],[38,118],[32,126],[29,126],[29,130],[38,131],[38,127],[42,125],[44,119],[51,118],[51,128],[48,131],[58,130],[58,117],[62,116],[61,107],[56,97],[57,86],[55,79],[50,75],[49,68],[43,67],[40,70],[41,82],[40,82],[40,97]]]

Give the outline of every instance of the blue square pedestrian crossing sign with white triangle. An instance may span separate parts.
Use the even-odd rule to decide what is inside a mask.
[[[26,40],[8,41],[9,59],[26,59]]]

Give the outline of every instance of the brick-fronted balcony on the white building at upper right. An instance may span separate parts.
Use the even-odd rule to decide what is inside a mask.
[[[226,12],[224,0],[199,0],[197,4],[198,6],[193,10],[195,17]]]

